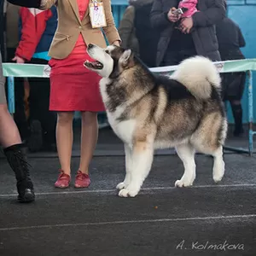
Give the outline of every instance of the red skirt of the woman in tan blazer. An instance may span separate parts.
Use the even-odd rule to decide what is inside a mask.
[[[91,60],[83,55],[70,55],[63,60],[51,59],[49,110],[105,111],[100,94],[100,77],[84,67]]]

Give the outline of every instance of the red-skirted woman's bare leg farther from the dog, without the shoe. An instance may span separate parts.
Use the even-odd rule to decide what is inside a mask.
[[[56,143],[61,163],[61,170],[70,175],[73,147],[73,112],[58,113]]]

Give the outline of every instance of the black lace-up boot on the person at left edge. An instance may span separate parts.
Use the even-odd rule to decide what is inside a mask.
[[[31,202],[35,200],[33,183],[29,175],[29,165],[22,144],[12,145],[3,149],[9,165],[15,172],[17,180],[18,201]]]

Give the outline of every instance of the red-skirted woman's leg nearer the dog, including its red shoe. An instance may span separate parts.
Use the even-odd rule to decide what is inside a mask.
[[[90,185],[89,165],[96,148],[98,122],[96,112],[82,112],[81,157],[75,188],[87,188]]]

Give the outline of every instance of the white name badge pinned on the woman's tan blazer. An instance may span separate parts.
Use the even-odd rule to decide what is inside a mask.
[[[89,7],[92,28],[107,26],[103,3],[93,0]]]

